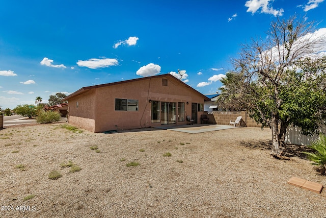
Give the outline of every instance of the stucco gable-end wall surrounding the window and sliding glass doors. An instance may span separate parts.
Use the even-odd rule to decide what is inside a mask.
[[[96,88],[95,132],[160,126],[160,123],[151,123],[149,100],[184,102],[185,116],[191,116],[191,103],[204,103],[204,99],[199,93],[181,85],[178,81],[164,79],[168,79],[168,86],[162,86],[162,78],[151,78]],[[116,98],[138,100],[138,111],[115,111]],[[189,104],[187,105],[186,102]],[[203,112],[198,112],[198,123],[200,123],[201,114]],[[178,125],[186,123],[186,121],[177,122]]]

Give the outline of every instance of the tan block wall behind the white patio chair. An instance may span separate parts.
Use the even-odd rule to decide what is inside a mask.
[[[245,111],[205,111],[209,118],[209,124],[229,125],[230,120],[234,121],[236,117],[242,116],[240,126],[242,127],[261,127],[254,119],[249,117]]]

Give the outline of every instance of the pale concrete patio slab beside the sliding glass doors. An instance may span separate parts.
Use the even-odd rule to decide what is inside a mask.
[[[163,126],[158,127],[159,129],[167,129],[172,131],[178,132],[185,132],[185,133],[202,133],[202,132],[210,132],[210,131],[217,131],[217,130],[226,130],[226,129],[234,129],[238,127],[228,126],[228,125],[184,125],[184,126]]]

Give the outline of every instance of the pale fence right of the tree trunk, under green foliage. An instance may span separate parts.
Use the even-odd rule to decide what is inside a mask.
[[[289,126],[286,129],[285,142],[289,144],[309,145],[313,140],[318,138],[318,135],[313,135],[312,137],[302,135],[300,131],[301,128],[299,127]],[[318,132],[326,133],[326,126],[319,127]]]

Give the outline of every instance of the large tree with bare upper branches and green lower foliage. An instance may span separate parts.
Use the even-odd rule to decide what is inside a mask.
[[[232,60],[235,70],[226,78],[230,81],[222,81],[227,85],[221,100],[247,109],[256,122],[271,129],[274,156],[282,154],[290,124],[312,134],[323,118],[317,114],[324,113],[326,102],[326,58],[311,54],[325,38],[316,37],[314,27],[315,22],[295,16],[271,22],[264,40],[242,45],[239,57]],[[231,89],[234,84],[237,88]]]

